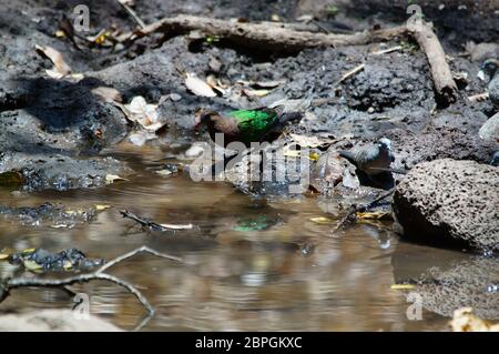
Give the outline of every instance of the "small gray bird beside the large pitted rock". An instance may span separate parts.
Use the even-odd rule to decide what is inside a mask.
[[[367,175],[376,175],[391,171],[395,156],[390,150],[390,141],[380,139],[376,144],[354,148],[349,151],[339,151],[339,155],[352,162],[358,170]]]

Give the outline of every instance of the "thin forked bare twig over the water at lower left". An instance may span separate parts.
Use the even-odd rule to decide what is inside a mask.
[[[128,260],[139,253],[142,253],[142,252],[150,253],[150,254],[153,254],[155,256],[163,257],[166,260],[182,262],[182,259],[180,259],[180,257],[157,252],[147,246],[141,246],[139,249],[135,249],[131,252],[128,252],[125,254],[122,254],[122,255],[111,260],[110,262],[102,265],[101,267],[99,267],[96,271],[94,271],[92,273],[74,275],[74,276],[70,276],[70,277],[65,277],[65,279],[13,277],[13,279],[0,280],[0,301],[3,300],[9,294],[10,290],[18,289],[18,287],[30,287],[30,286],[60,287],[60,286],[72,285],[72,284],[77,284],[77,283],[86,283],[86,282],[94,281],[94,280],[108,281],[108,282],[114,283],[116,285],[120,285],[120,286],[126,289],[130,293],[132,293],[139,300],[139,302],[147,311],[147,315],[134,328],[135,331],[140,330],[154,316],[154,313],[155,313],[154,307],[149,303],[147,299],[134,285],[132,285],[131,283],[129,283],[118,276],[104,273],[104,271],[108,270],[109,267],[111,267],[120,262],[123,262],[124,260]]]

